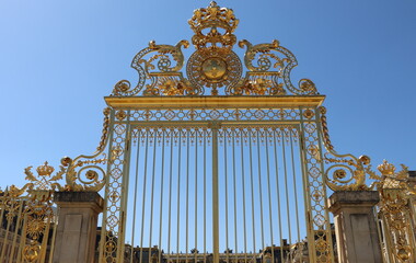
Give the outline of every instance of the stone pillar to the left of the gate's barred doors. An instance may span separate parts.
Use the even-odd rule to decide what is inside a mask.
[[[56,192],[59,207],[54,263],[92,263],[103,198],[95,192]]]

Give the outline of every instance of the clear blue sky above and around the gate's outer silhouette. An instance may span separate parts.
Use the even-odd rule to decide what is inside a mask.
[[[293,82],[327,95],[339,153],[366,153],[416,170],[414,0],[217,1],[240,19],[239,39],[274,38],[298,58]],[[103,96],[149,41],[189,39],[187,20],[209,1],[0,0],[0,185],[23,169],[92,153]]]

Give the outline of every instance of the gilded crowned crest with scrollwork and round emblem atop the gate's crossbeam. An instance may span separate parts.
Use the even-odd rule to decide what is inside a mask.
[[[298,87],[292,84],[290,72],[298,62],[278,41],[257,45],[240,41],[239,46],[246,47],[243,64],[233,50],[239,20],[232,9],[212,1],[207,8],[195,10],[188,24],[194,31],[192,44],[196,50],[187,60],[182,50],[188,47],[187,41],[176,45],[157,45],[152,41],[132,59],[131,67],[139,75],[136,87],[122,80],[112,95],[196,96],[208,91],[210,95],[317,94],[309,79],[301,79]],[[186,76],[182,71],[185,62]]]

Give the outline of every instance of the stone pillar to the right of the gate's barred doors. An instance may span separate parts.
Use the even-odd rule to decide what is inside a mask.
[[[340,191],[328,198],[330,210],[334,214],[339,262],[383,262],[373,211],[379,201],[375,191]]]

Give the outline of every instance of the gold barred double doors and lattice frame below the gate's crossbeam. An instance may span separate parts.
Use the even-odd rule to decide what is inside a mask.
[[[203,99],[112,111],[103,260],[331,261],[319,108]]]

